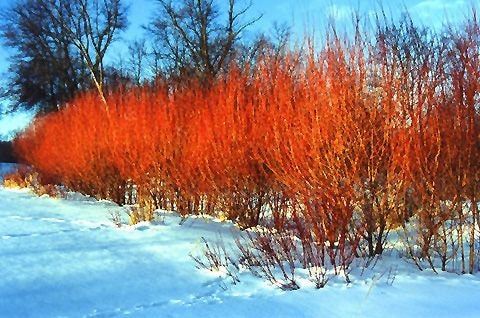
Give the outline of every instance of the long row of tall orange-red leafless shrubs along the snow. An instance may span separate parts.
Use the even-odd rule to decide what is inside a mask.
[[[232,62],[208,86],[157,81],[108,95],[110,108],[85,94],[16,149],[47,179],[120,204],[242,227],[301,220],[340,266],[383,253],[396,229],[419,268],[472,273],[480,22],[442,36],[408,18],[379,19],[374,37],[356,27]]]

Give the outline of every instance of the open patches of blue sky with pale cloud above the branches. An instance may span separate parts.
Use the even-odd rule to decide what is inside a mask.
[[[10,5],[14,0],[0,0],[0,10]],[[249,0],[237,0],[240,4],[248,4]],[[150,21],[155,14],[156,0],[125,0],[130,5],[130,26],[122,37],[133,40],[143,36],[142,25]],[[217,0],[225,6],[227,0]],[[480,8],[480,0],[252,0],[249,14],[252,18],[263,15],[262,19],[254,24],[249,34],[257,31],[269,32],[274,22],[290,24],[297,36],[302,38],[305,30],[321,33],[328,17],[334,17],[339,25],[348,23],[351,14],[358,9],[362,15],[371,15],[378,11],[379,3],[383,3],[387,13],[398,17],[408,10],[413,19],[433,28],[441,28],[446,22],[455,23],[461,20],[468,10],[475,5]],[[247,18],[248,19],[248,18]],[[110,60],[117,61],[125,50],[120,44],[111,50]],[[8,70],[8,56],[11,51],[0,44],[0,81],[6,77]],[[1,112],[0,105],[0,112]],[[1,118],[0,139],[5,139],[11,131],[24,126],[31,115],[18,114],[15,118]]]

